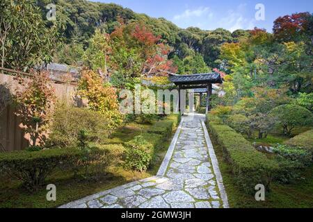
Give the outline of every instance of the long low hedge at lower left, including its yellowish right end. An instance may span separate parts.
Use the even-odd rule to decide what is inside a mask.
[[[85,169],[83,173],[104,173],[109,164],[120,161],[123,152],[121,145],[104,145],[89,148],[88,152],[79,148],[51,148],[0,153],[0,174],[22,180],[23,187],[36,191],[56,167],[71,169],[75,174],[81,167]]]

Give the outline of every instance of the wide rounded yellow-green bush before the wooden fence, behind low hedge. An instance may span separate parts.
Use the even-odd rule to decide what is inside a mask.
[[[98,112],[61,107],[54,113],[48,144],[59,147],[76,146],[81,130],[88,132],[90,141],[97,142],[108,137],[107,129],[106,118]]]

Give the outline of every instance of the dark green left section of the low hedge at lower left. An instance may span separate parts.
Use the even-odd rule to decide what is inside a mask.
[[[56,167],[73,166],[80,157],[76,148],[0,153],[0,172],[22,180],[26,189],[36,191]]]

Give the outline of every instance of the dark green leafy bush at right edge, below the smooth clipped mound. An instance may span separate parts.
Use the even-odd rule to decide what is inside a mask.
[[[298,148],[286,145],[275,146],[276,160],[279,164],[275,180],[283,183],[289,183],[300,176],[301,171],[311,164],[312,153]]]

